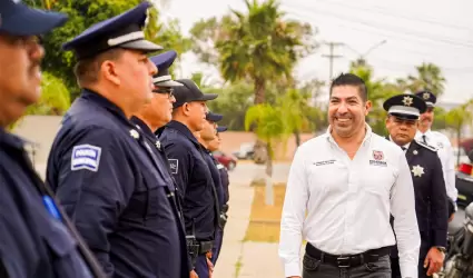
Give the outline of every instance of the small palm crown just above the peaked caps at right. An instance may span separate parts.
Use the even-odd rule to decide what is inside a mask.
[[[430,90],[437,97],[442,96],[446,81],[442,75],[442,70],[433,63],[425,62],[415,68],[417,70],[417,76],[407,77],[411,91]]]

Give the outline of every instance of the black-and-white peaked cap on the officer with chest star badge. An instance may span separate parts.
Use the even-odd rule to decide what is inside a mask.
[[[421,113],[425,112],[427,105],[415,95],[403,93],[384,101],[383,108],[396,118],[416,120]]]

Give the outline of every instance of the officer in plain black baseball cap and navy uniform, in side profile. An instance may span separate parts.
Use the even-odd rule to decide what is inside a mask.
[[[183,203],[189,256],[198,277],[210,275],[211,262],[207,254],[211,251],[216,226],[218,225],[218,203],[211,172],[205,160],[195,132],[203,130],[206,121],[206,101],[218,95],[203,93],[197,85],[188,79],[177,80],[175,87],[173,120],[166,125],[159,140],[168,156],[179,198]]]

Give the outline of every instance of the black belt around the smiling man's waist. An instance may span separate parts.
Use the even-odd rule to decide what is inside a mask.
[[[324,252],[311,244],[307,244],[305,251],[308,256],[314,259],[321,260],[321,262],[329,264],[339,268],[357,267],[366,262],[375,262],[380,257],[387,256],[390,254],[390,247],[382,247],[380,249],[367,250],[356,255],[332,255]]]

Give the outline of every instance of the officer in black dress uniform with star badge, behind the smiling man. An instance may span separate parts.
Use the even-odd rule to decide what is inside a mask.
[[[436,150],[414,139],[418,117],[425,112],[426,105],[415,95],[397,95],[387,99],[383,107],[388,113],[386,128],[390,139],[404,150],[414,183],[415,212],[422,240],[418,277],[432,276],[443,266],[449,216],[442,165]],[[396,248],[391,257],[392,275],[401,277]]]

